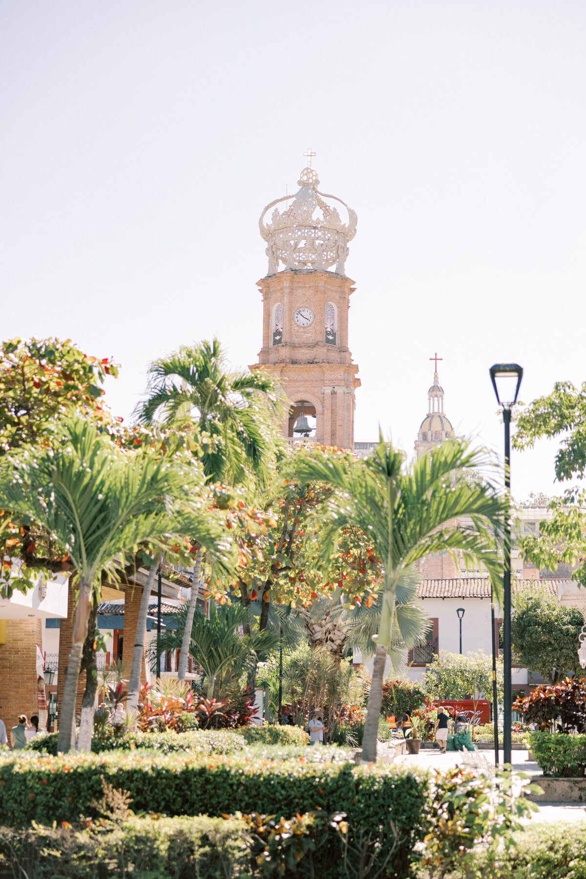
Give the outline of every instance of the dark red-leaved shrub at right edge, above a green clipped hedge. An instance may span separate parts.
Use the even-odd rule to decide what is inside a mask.
[[[566,678],[552,686],[540,684],[527,698],[517,699],[513,709],[525,723],[536,723],[544,732],[558,718],[560,732],[586,732],[586,678]]]

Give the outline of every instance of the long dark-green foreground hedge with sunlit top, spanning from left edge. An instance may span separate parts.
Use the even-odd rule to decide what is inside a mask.
[[[416,857],[414,846],[426,825],[427,776],[402,767],[201,758],[179,752],[0,756],[4,824],[93,817],[103,782],[128,791],[135,811],[170,816],[344,812],[352,838],[370,836],[384,849],[396,833],[390,863],[402,876]]]

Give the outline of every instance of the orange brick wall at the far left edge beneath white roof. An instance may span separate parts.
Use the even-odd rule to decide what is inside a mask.
[[[40,619],[6,621],[6,643],[0,644],[0,718],[10,737],[17,717],[38,713],[37,649]]]

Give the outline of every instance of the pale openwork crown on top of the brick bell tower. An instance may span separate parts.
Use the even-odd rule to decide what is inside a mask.
[[[336,264],[336,273],[344,274],[344,264],[348,256],[348,243],[356,235],[358,217],[342,199],[336,195],[325,195],[317,190],[320,181],[315,168],[304,168],[298,180],[300,191],[295,196],[283,196],[271,201],[260,215],[258,227],[267,243],[266,255],[269,258],[267,274],[279,271],[279,262],[286,269],[328,269]],[[271,223],[264,225],[264,214],[279,202],[293,198],[293,204],[283,214],[275,207]],[[336,207],[329,207],[323,199],[335,199],[348,211],[348,222],[344,224]],[[322,216],[314,216],[320,209]]]

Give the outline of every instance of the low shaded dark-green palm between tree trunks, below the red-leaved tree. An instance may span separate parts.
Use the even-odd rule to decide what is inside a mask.
[[[177,628],[161,636],[161,653],[179,647],[183,650],[184,627],[189,615],[188,607],[177,612]],[[250,614],[240,603],[216,607],[211,601],[209,619],[200,610],[192,616],[189,655],[201,665],[208,699],[212,699],[214,692],[220,696],[225,694],[250,663],[256,661],[258,653],[273,650],[279,643],[279,637],[267,629],[262,632],[256,629],[250,635],[242,636],[239,629],[244,622],[250,622]]]

